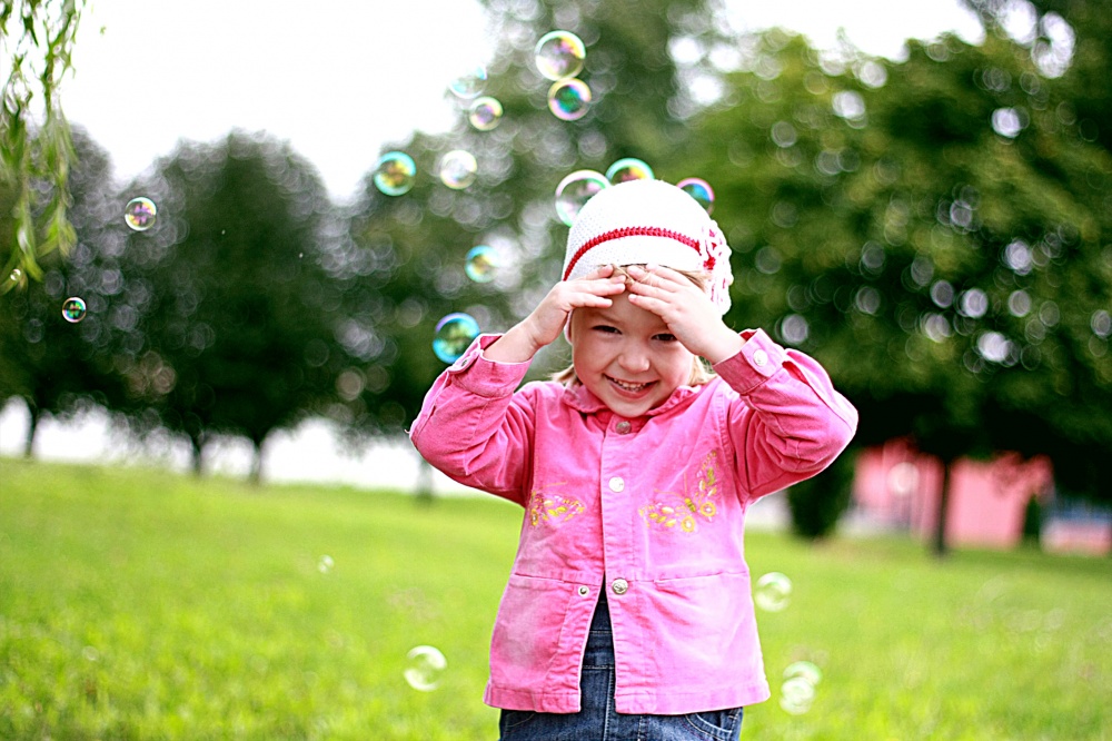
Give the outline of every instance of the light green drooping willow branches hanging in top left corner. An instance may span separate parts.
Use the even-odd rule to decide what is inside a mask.
[[[40,259],[77,244],[69,214],[73,142],[58,88],[72,67],[83,7],[85,0],[0,3],[0,68],[8,71],[0,101],[0,185],[11,197],[0,216],[13,219],[16,237],[0,243],[0,274],[20,274],[0,283],[0,293],[41,279]]]

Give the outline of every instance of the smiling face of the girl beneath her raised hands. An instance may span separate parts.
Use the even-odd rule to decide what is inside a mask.
[[[639,417],[691,379],[695,356],[664,319],[612,296],[607,308],[572,313],[572,364],[579,382],[615,414]]]

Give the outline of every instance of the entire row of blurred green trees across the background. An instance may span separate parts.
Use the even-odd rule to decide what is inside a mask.
[[[524,315],[557,279],[556,184],[637,157],[712,184],[734,250],[727,320],[817,357],[862,412],[855,448],[905,436],[947,466],[1044,454],[1060,490],[1112,501],[1112,20],[1039,0],[1016,31],[1014,3],[969,4],[983,43],[912,41],[892,62],[734,33],[709,0],[489,0],[484,92],[502,122],[476,129],[461,101],[454,130],[387,147],[416,161],[411,190],[385,195],[368,171],[345,205],[266,136],[182,144],[119,188],[78,131],[77,246],[0,298],[0,398],[33,419],[98,404],[187,437],[198,465],[214,435],[259,451],[307,416],[400,433],[444,367],[437,320]],[[594,100],[575,121],[550,113],[533,65],[554,28],[587,45]],[[478,162],[461,189],[436,177],[456,149]],[[122,219],[138,195],[158,204],[147,231]],[[507,261],[493,283],[464,273],[479,244]],[[78,324],[60,313],[71,295]],[[564,362],[557,348],[532,373]],[[852,461],[790,492],[798,533],[832,532]]]

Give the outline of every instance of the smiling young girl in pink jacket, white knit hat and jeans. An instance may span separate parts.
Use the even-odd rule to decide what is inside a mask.
[[[587,201],[563,277],[437,378],[410,433],[525,508],[485,701],[504,741],[737,739],[770,695],[745,512],[828,465],[856,411],[807,355],[726,327],[728,247],[675,186]],[[560,333],[564,383],[518,389]]]

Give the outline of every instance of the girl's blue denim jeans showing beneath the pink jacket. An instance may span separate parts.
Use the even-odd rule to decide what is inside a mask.
[[[499,741],[737,741],[742,709],[687,715],[625,715],[614,710],[614,642],[606,595],[590,622],[579,680],[582,710],[536,713],[503,710]]]

